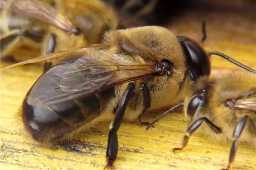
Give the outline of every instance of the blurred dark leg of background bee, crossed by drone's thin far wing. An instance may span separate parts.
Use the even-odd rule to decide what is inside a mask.
[[[55,50],[55,47],[56,47],[56,35],[52,33],[51,36],[49,37],[45,54],[53,53]],[[44,73],[47,72],[51,67],[52,67],[52,61],[47,60],[44,63]]]

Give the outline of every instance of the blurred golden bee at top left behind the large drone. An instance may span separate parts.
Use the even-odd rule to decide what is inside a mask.
[[[13,51],[20,36],[30,40],[41,36],[39,44],[35,44],[37,47],[41,45],[41,54],[49,54],[100,43],[104,32],[117,26],[115,12],[99,0],[57,1],[55,8],[40,0],[1,0],[1,8],[36,20],[1,38],[1,47],[4,47],[1,49],[2,57]],[[48,62],[44,70],[50,67],[51,63]]]

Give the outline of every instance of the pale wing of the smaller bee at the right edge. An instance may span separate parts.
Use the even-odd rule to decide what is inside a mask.
[[[235,108],[244,109],[256,112],[256,94],[247,98],[238,99],[235,102]]]

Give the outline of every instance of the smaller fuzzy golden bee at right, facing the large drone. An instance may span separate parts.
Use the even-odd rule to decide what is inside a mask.
[[[183,106],[176,105],[173,108]],[[221,142],[233,140],[227,169],[234,161],[238,141],[255,146],[256,142],[256,74],[234,72],[223,77],[199,77],[191,86],[191,93],[184,101],[188,129],[182,146],[199,127],[209,139]],[[153,126],[166,113],[148,125]],[[205,124],[202,124],[205,122]],[[233,133],[232,133],[233,132]]]

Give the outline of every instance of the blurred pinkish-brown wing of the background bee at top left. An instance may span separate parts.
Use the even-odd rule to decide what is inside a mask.
[[[1,8],[35,18],[66,32],[76,32],[69,20],[55,14],[54,8],[39,0],[1,0]]]

